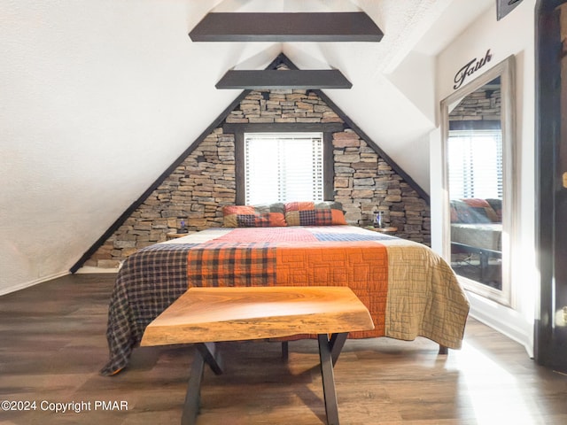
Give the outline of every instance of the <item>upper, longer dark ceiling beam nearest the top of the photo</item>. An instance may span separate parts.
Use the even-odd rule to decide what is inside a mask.
[[[208,13],[193,42],[379,42],[384,33],[364,12]]]

